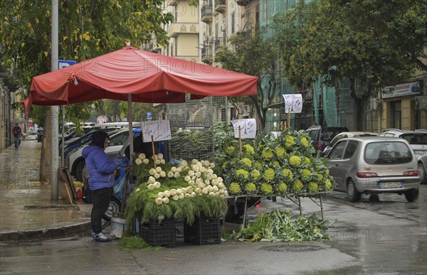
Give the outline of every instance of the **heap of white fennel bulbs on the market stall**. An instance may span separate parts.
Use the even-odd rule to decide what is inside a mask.
[[[162,153],[158,153],[154,156],[155,162],[165,164]],[[137,166],[149,164],[149,159],[146,158],[144,153],[140,153],[138,158],[135,159]],[[156,201],[157,205],[169,203],[170,200],[183,200],[185,198],[193,198],[196,195],[211,195],[216,197],[223,197],[228,195],[226,185],[223,183],[223,178],[218,177],[214,173],[213,168],[215,164],[209,161],[198,161],[193,159],[191,163],[187,161],[181,161],[178,166],[172,166],[164,171],[161,166],[156,168],[149,168],[149,178],[144,184],[149,190],[155,190],[161,188],[162,183],[159,180],[167,178],[173,180],[176,178],[183,177],[186,183],[181,188],[171,188],[169,190],[159,191],[157,193]],[[137,188],[135,193],[139,192],[141,188]]]

